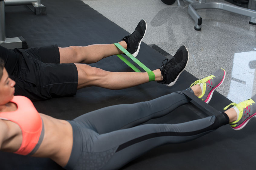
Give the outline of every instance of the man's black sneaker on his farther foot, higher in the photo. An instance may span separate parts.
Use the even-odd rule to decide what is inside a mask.
[[[134,32],[128,36],[125,36],[121,41],[125,41],[127,44],[127,51],[136,57],[139,53],[141,41],[145,36],[147,30],[147,23],[145,20],[141,20],[136,26]]]

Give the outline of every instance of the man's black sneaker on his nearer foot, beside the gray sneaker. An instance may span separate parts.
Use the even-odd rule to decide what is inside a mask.
[[[165,59],[161,70],[162,83],[167,86],[172,86],[176,83],[180,74],[185,70],[189,60],[189,53],[185,46],[181,46],[171,60]]]

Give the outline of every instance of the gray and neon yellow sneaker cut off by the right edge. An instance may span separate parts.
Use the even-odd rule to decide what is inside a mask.
[[[245,127],[245,125],[251,120],[251,118],[256,116],[256,94],[248,100],[242,101],[238,104],[231,103],[224,108],[226,110],[229,106],[234,105],[234,109],[239,112],[237,115],[237,120],[229,123],[234,130],[240,130]]]

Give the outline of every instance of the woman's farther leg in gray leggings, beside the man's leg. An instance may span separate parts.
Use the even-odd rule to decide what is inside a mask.
[[[187,89],[192,92],[192,89]],[[198,86],[198,90],[201,90]],[[156,99],[135,104],[120,104],[105,107],[77,117],[99,134],[108,133],[121,128],[130,128],[149,119],[164,116],[189,100],[182,91],[173,92]]]

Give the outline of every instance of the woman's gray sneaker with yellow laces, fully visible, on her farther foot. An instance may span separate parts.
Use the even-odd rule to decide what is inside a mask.
[[[211,76],[208,76],[201,80],[196,80],[193,82],[190,87],[193,85],[201,84],[203,85],[202,95],[199,96],[204,102],[209,103],[212,98],[213,92],[218,88],[225,80],[226,72],[224,69],[218,69]]]

